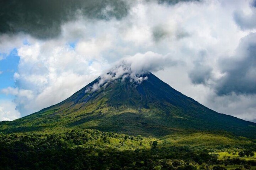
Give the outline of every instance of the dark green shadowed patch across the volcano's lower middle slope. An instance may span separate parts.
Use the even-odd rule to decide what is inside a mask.
[[[92,120],[99,120],[100,123],[97,126],[86,126],[86,128],[135,136],[143,135],[160,138],[178,131],[175,128],[162,125],[158,119],[150,119],[143,116],[143,114],[136,113],[122,113],[113,116],[106,116],[105,114],[99,113],[72,122],[69,124],[69,127],[82,125]]]

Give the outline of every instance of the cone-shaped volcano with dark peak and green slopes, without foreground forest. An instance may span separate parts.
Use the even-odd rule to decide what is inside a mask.
[[[181,131],[226,131],[256,138],[256,123],[217,113],[181,94],[150,72],[136,80],[113,73],[37,113],[1,122],[3,133],[97,129],[163,137]],[[47,99],[45,99],[47,100]]]

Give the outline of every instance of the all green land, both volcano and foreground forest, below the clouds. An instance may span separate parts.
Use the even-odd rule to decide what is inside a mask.
[[[255,123],[144,76],[0,122],[0,169],[255,169]]]

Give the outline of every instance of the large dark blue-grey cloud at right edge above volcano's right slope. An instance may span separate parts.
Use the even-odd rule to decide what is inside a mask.
[[[242,39],[237,56],[220,61],[226,75],[216,87],[217,94],[256,94],[256,33]]]

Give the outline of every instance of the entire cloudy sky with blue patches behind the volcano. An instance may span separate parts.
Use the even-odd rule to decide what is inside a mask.
[[[3,0],[0,121],[105,75],[151,71],[219,113],[256,122],[255,0]],[[145,79],[146,81],[146,79]]]

